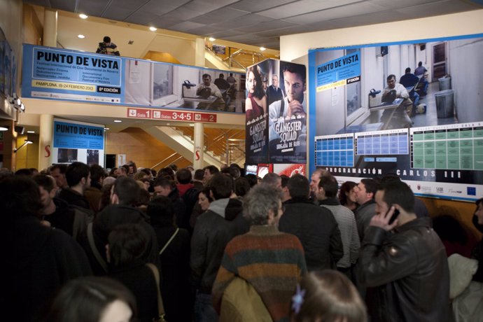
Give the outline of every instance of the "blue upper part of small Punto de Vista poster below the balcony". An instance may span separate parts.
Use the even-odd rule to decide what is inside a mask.
[[[104,127],[54,121],[54,148],[104,149]]]

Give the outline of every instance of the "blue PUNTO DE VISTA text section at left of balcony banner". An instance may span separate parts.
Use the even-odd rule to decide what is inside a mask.
[[[24,45],[22,96],[123,103],[123,59]]]

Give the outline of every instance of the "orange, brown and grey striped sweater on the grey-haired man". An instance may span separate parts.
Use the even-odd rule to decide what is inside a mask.
[[[250,283],[274,321],[288,321],[290,300],[307,272],[302,244],[294,235],[269,225],[252,225],[228,243],[213,286],[214,307],[220,311],[225,288],[235,276]]]

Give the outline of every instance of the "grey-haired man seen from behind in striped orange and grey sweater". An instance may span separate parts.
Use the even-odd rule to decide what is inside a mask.
[[[260,295],[273,321],[289,317],[290,299],[307,268],[300,241],[277,228],[282,214],[278,189],[262,183],[246,196],[244,217],[251,223],[250,231],[226,246],[212,290],[215,308],[222,317],[225,304],[241,316],[249,311],[245,306],[233,305],[251,300],[243,288],[228,288],[239,279]]]

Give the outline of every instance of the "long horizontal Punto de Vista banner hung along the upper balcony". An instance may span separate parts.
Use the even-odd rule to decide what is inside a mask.
[[[23,52],[22,97],[244,111],[241,73],[38,45],[24,45]]]

